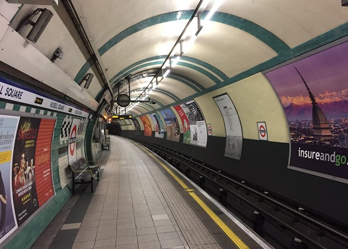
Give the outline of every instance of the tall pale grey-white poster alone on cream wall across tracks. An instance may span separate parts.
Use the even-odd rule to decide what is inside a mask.
[[[243,148],[243,132],[237,110],[228,94],[213,98],[219,107],[226,129],[225,156],[241,159]]]

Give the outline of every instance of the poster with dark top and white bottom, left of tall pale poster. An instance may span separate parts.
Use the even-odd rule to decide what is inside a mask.
[[[181,104],[180,107],[184,111],[189,123],[190,144],[206,147],[208,137],[207,126],[197,103],[192,100]],[[183,125],[185,126],[185,124]]]

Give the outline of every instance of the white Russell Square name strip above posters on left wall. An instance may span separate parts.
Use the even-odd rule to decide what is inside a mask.
[[[84,112],[76,107],[72,107],[63,102],[41,96],[38,92],[35,93],[35,90],[33,90],[33,92],[30,92],[21,89],[20,86],[16,83],[11,82],[10,84],[7,84],[7,82],[9,81],[0,78],[0,99],[16,101],[23,104],[38,106],[62,113],[73,114],[84,118],[88,117],[87,112]],[[18,87],[16,87],[17,85]]]

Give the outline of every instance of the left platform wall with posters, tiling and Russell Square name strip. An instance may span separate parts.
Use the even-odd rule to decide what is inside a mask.
[[[9,170],[13,170],[12,178],[15,177],[15,168],[19,167],[19,163],[17,163],[19,156],[24,154],[24,160],[27,160],[24,167],[28,169],[33,165],[35,172],[30,174],[31,171],[28,170],[29,173],[24,175],[24,179],[30,179],[27,186],[31,185],[31,190],[29,187],[25,187],[26,185],[20,188],[22,191],[19,188],[17,188],[18,191],[12,190],[14,193],[13,202],[10,201],[11,194],[5,193],[7,204],[14,206],[13,215],[17,217],[18,228],[11,231],[11,234],[7,234],[8,238],[1,243],[1,246],[4,248],[26,248],[39,237],[72,195],[72,174],[68,164],[77,158],[86,156],[85,137],[88,136],[86,133],[88,113],[81,110],[86,115],[72,115],[69,113],[70,108],[79,110],[78,107],[25,87],[24,82],[13,81],[12,77],[8,77],[11,80],[3,74],[0,77],[1,86],[4,87],[3,91],[5,87],[8,87],[8,90],[12,87],[13,90],[17,89],[17,91],[22,92],[21,100],[16,101],[14,97],[13,101],[3,99],[0,101],[1,122],[4,124],[11,119],[18,120],[17,130],[15,130],[15,125],[13,126],[16,135],[13,138],[14,150],[10,152],[10,158],[8,157],[8,159],[12,159],[12,165],[10,165],[10,161],[7,163]],[[17,83],[21,84],[21,88],[16,88],[19,86]],[[34,96],[34,99],[31,100],[30,96]],[[19,101],[33,104],[20,103]],[[40,103],[35,106],[35,101]],[[43,108],[45,102],[48,101],[69,106],[67,113],[55,111],[55,105],[52,108]],[[1,128],[3,129],[3,127]],[[73,138],[71,141],[74,141],[69,142],[70,138]],[[72,150],[74,153],[70,155],[69,151]],[[2,162],[2,164],[5,163]],[[40,168],[43,168],[44,164],[45,168],[42,171]],[[3,170],[4,167],[1,168],[2,178],[5,177]],[[7,174],[7,176],[9,175]],[[50,181],[51,179],[52,181]],[[12,182],[12,188],[14,188],[19,181],[3,179],[3,182],[5,189],[10,190],[10,187],[7,186],[9,182]],[[52,182],[51,187],[47,185],[47,182]],[[49,195],[46,193],[48,199],[42,196],[45,195],[43,191],[50,192]],[[19,198],[15,194],[17,192],[18,196],[21,195]],[[23,204],[26,212],[23,213],[24,215],[20,215],[21,205],[19,202],[24,197],[30,200],[26,203],[31,204],[30,207],[28,204],[26,206]],[[10,216],[10,212],[6,212],[6,216]],[[22,217],[19,220],[20,216]]]

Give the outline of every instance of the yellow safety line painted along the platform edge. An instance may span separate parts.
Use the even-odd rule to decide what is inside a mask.
[[[140,145],[136,144],[140,148],[142,148],[146,153],[148,153],[151,157],[153,157],[168,173],[173,176],[173,178],[187,191],[188,194],[201,206],[201,208],[210,216],[210,218],[221,228],[222,231],[233,241],[234,244],[240,249],[249,249],[249,247],[244,244],[244,242],[195,194],[192,189],[188,189],[188,186],[181,181],[174,172],[168,168],[163,162],[161,162],[157,157],[151,154],[149,151],[145,150]]]

